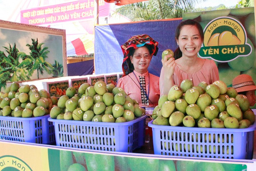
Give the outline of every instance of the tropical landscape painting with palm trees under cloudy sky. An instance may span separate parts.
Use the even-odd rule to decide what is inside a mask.
[[[0,28],[0,88],[6,82],[65,76],[63,36],[45,32]]]

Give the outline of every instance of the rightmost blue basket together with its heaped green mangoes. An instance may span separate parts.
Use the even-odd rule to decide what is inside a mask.
[[[255,115],[223,81],[182,81],[160,97],[152,118],[155,154],[252,159]]]

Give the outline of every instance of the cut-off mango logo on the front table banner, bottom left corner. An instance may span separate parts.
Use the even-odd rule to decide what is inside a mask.
[[[0,157],[0,171],[32,171],[30,166],[15,156]]]

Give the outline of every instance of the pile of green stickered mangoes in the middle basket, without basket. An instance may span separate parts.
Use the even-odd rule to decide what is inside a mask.
[[[76,94],[68,87],[50,112],[52,119],[92,122],[128,122],[145,114],[137,101],[121,87],[97,81],[94,86],[83,83]]]

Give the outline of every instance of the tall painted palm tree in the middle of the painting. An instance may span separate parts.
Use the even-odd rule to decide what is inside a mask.
[[[46,58],[48,58],[48,47],[42,48],[42,45],[44,43],[38,43],[38,39],[31,39],[32,44],[27,44],[26,46],[30,49],[30,55],[26,55],[24,52],[21,52],[21,58],[23,60],[24,65],[26,65],[27,70],[30,70],[30,76],[33,74],[33,72],[37,71],[37,78],[39,79],[39,72],[41,75],[44,74],[44,70],[51,74],[51,70],[53,69],[53,66],[46,61]]]

